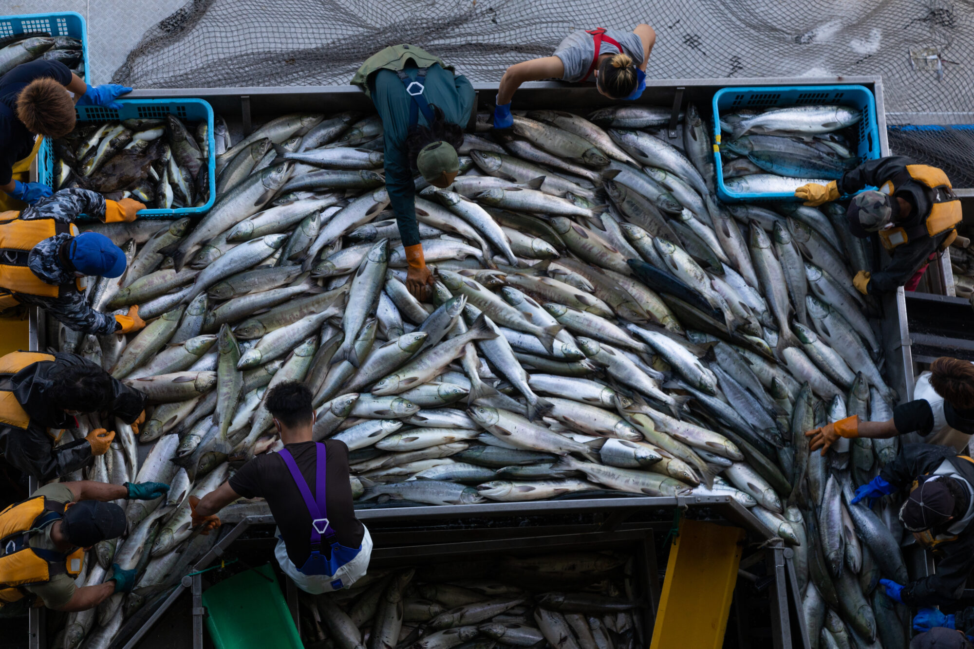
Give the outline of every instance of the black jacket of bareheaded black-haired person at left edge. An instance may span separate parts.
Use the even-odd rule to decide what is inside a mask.
[[[48,429],[75,428],[77,420],[63,406],[45,394],[48,377],[56,367],[94,364],[74,354],[55,354],[54,361],[31,363],[11,378],[12,392],[30,416],[26,429],[0,427],[0,455],[20,471],[40,480],[65,476],[86,466],[92,459],[92,445],[85,439],[55,447]],[[105,403],[93,403],[92,411],[106,411],[127,424],[145,408],[145,395],[112,379],[112,394]]]

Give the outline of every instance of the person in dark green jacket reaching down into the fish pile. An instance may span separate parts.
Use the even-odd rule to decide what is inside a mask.
[[[372,98],[386,137],[386,189],[406,251],[406,288],[429,301],[434,284],[416,223],[414,172],[434,187],[449,187],[460,172],[476,96],[467,77],[415,45],[395,45],[369,57],[352,83]]]

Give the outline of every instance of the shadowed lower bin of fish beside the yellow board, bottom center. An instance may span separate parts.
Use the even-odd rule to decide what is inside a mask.
[[[645,647],[634,561],[574,552],[370,570],[350,590],[302,593],[302,638],[348,649]]]

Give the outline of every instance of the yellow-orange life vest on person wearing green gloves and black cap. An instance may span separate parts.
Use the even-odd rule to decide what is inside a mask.
[[[81,574],[84,549],[65,554],[28,545],[32,534],[43,534],[63,514],[64,503],[45,496],[28,498],[0,512],[0,607],[28,596],[21,590],[24,586],[46,584],[56,575]]]

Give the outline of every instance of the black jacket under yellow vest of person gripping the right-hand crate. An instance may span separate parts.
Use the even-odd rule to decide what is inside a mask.
[[[893,196],[905,200],[913,208],[910,216],[905,221],[897,221],[896,225],[911,228],[925,221],[933,206],[930,188],[910,178],[910,173],[907,172],[907,165],[913,164],[914,161],[903,156],[869,160],[845,172],[837,183],[839,191],[843,194],[854,194],[869,185],[881,187],[886,181],[891,181],[894,185]],[[927,262],[930,253],[940,248],[950,233],[948,230],[935,237],[911,239],[906,244],[893,248],[889,265],[870,276],[869,292],[888,292],[905,285]]]

